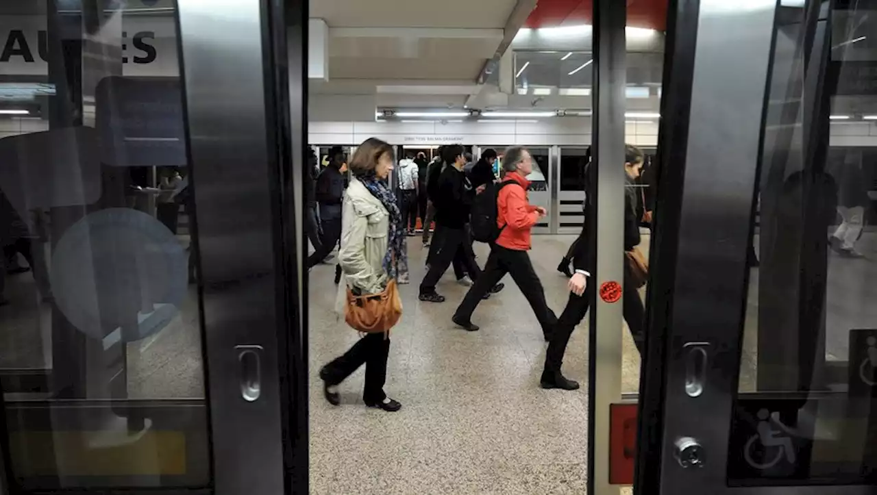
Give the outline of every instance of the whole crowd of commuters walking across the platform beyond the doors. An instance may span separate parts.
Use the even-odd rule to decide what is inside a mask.
[[[407,153],[398,164],[398,180],[392,190],[387,180],[394,170],[392,146],[379,139],[368,139],[360,145],[350,164],[352,178],[344,187],[340,178],[345,168],[345,157],[340,149],[332,149],[329,165],[311,181],[316,192],[309,198],[309,229],[322,229],[315,252],[309,258],[311,265],[329,255],[334,244],[340,242],[339,270],[344,283],[339,285],[337,311],[343,314],[345,294],[375,294],[381,297],[389,280],[402,282],[407,277],[408,253],[405,238],[413,234],[420,213],[424,230],[424,245],[429,244],[431,222],[435,221],[429,252],[427,272],[419,287],[419,300],[443,302],[445,297],[436,292],[436,285],[450,265],[458,279],[471,279],[466,296],[454,312],[452,322],[462,329],[477,331],[471,318],[481,300],[503,289],[500,282],[506,274],[524,293],[542,329],[548,350],[540,379],[543,388],[574,390],[579,384],[567,379],[561,372],[564,353],[573,329],[588,311],[589,297],[594,290],[588,284],[594,270],[594,253],[586,242],[594,228],[594,205],[585,202],[585,223],[581,235],[571,248],[567,264],[572,262],[570,291],[567,306],[558,318],[545,300],[545,290],[533,268],[528,251],[531,250],[531,230],[547,211],[528,201],[527,177],[533,171],[533,158],[523,146],[511,146],[503,154],[503,177],[494,173],[497,154],[485,150],[477,161],[461,145],[439,148],[438,156],[427,163],[424,156]],[[640,242],[640,223],[651,212],[638,201],[637,189],[630,187],[643,166],[643,153],[634,146],[626,146],[624,172],[627,177],[624,202],[624,250],[631,251]],[[621,164],[619,164],[621,165]],[[585,171],[586,176],[589,174]],[[424,177],[425,176],[425,177]],[[473,250],[473,232],[470,224],[472,208],[478,194],[481,204],[495,205],[491,223],[496,223],[496,237],[489,242],[490,254],[483,270],[476,262]],[[492,195],[490,195],[492,194]],[[485,199],[486,198],[486,199]],[[425,203],[425,206],[424,206]],[[315,204],[320,206],[320,221],[313,220]],[[324,217],[325,212],[325,217]],[[414,220],[412,221],[412,218]],[[327,233],[328,232],[328,233]],[[481,237],[480,237],[481,238]],[[313,242],[313,241],[312,241]],[[627,271],[625,270],[625,277]],[[624,319],[631,329],[637,349],[643,350],[643,319],[645,311],[637,288],[624,283]],[[402,405],[387,397],[383,385],[387,378],[390,330],[367,333],[350,350],[325,364],[320,370],[324,382],[324,396],[333,405],[339,404],[338,385],[361,365],[366,365],[363,400],[369,407],[397,411]]]

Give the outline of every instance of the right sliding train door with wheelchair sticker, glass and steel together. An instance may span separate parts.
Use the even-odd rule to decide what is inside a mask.
[[[671,2],[637,493],[875,490],[875,10]]]

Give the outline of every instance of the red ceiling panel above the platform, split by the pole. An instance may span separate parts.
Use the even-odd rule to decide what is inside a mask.
[[[619,0],[620,1],[620,0]],[[627,0],[627,25],[664,31],[668,0]],[[539,0],[526,27],[594,24],[594,0]]]

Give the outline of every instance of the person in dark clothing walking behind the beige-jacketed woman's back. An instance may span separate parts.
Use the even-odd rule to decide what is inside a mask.
[[[341,238],[341,202],[344,198],[345,178],[341,173],[344,164],[344,151],[341,146],[332,146],[329,151],[329,165],[317,177],[316,197],[320,208],[320,223],[323,226],[321,245],[308,257],[308,268],[317,265],[329,256]]]

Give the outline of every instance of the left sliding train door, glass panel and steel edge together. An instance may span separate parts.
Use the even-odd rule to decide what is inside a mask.
[[[4,492],[306,477],[280,5],[0,7]]]

